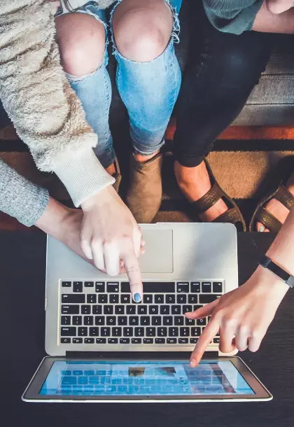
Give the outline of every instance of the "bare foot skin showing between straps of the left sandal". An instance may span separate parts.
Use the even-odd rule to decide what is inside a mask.
[[[189,202],[200,200],[211,188],[209,174],[204,161],[196,167],[185,167],[180,165],[179,162],[174,162],[174,173],[176,174],[179,188]],[[228,211],[228,207],[220,199],[214,206],[200,214],[200,218],[204,222],[211,222],[226,211]]]

